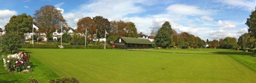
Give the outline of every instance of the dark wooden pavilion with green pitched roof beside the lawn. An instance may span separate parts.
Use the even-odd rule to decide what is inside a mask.
[[[152,49],[154,43],[148,39],[119,37],[114,41],[116,49]]]

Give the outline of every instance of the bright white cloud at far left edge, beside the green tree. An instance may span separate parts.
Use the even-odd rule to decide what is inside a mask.
[[[0,26],[2,26],[2,29],[9,22],[13,15],[17,15],[17,12],[10,10],[0,10]]]

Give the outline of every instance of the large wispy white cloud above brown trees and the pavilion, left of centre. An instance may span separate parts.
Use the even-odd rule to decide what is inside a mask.
[[[68,26],[76,28],[76,23],[79,19],[84,17],[92,17],[95,15],[103,16],[111,20],[123,19],[125,15],[140,13],[144,9],[136,6],[138,2],[135,1],[92,1],[89,4],[82,4],[69,13],[64,13],[63,17],[67,20]],[[140,1],[143,3],[143,1]]]

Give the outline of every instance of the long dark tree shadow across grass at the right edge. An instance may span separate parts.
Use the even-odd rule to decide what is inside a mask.
[[[250,56],[255,56],[254,53],[252,52],[211,52],[211,53],[215,53],[215,54],[222,54],[222,55],[250,55]],[[256,56],[255,56],[256,57]]]

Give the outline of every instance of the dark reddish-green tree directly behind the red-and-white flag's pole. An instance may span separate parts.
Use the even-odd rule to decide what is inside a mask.
[[[96,24],[97,31],[97,38],[104,38],[105,37],[105,30],[110,32],[110,22],[108,19],[103,18],[102,16],[95,16],[92,19]]]

